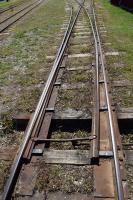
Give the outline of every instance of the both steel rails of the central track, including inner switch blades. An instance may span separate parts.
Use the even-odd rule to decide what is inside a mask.
[[[78,2],[78,1],[77,1]],[[124,200],[124,192],[123,192],[123,186],[122,186],[122,178],[121,178],[121,172],[120,172],[120,165],[119,165],[119,159],[118,159],[118,152],[117,152],[117,145],[116,145],[116,138],[115,138],[115,132],[114,132],[114,124],[113,124],[113,117],[112,117],[112,106],[109,96],[109,89],[108,89],[108,83],[107,83],[107,77],[106,77],[106,70],[105,70],[105,64],[104,64],[104,57],[101,47],[101,41],[100,36],[97,28],[97,22],[96,22],[96,15],[94,10],[94,5],[92,4],[90,10],[88,10],[84,7],[84,2],[78,2],[79,9],[74,16],[74,11],[71,8],[71,15],[69,19],[69,23],[66,29],[66,32],[64,34],[64,38],[62,40],[62,43],[60,45],[60,48],[57,52],[52,70],[50,72],[50,75],[48,77],[48,80],[46,82],[45,88],[42,92],[42,95],[40,97],[39,103],[36,107],[35,113],[32,117],[32,120],[28,126],[28,129],[25,134],[25,138],[23,140],[23,143],[20,147],[20,150],[18,152],[18,155],[14,161],[14,164],[11,169],[11,173],[9,176],[9,179],[7,181],[7,184],[5,186],[4,194],[3,194],[3,200],[8,200],[11,197],[12,190],[14,188],[14,182],[16,181],[16,177],[19,173],[19,170],[23,164],[23,157],[25,154],[25,151],[29,149],[29,155],[28,158],[30,160],[31,158],[31,152],[33,148],[32,140],[31,138],[37,138],[39,139],[39,131],[42,126],[42,122],[46,113],[46,108],[48,106],[54,84],[56,81],[56,78],[58,76],[58,72],[60,69],[60,65],[62,63],[64,53],[66,50],[66,47],[68,45],[71,33],[73,31],[73,28],[75,26],[75,23],[78,19],[78,16],[81,12],[81,9],[83,8],[91,25],[94,42],[95,42],[95,61],[96,61],[96,74],[95,74],[95,94],[94,94],[94,114],[93,114],[93,136],[96,138],[96,140],[93,140],[92,145],[92,158],[96,159],[99,158],[99,142],[100,142],[100,91],[99,91],[99,74],[102,70],[103,74],[103,82],[105,87],[105,95],[106,95],[106,102],[107,102],[107,111],[108,111],[108,118],[109,118],[109,129],[110,129],[110,136],[111,136],[111,143],[112,143],[112,151],[113,151],[113,160],[114,160],[114,168],[115,168],[115,177],[116,177],[116,187],[117,187],[117,196],[118,200]],[[91,12],[91,13],[90,13]],[[86,138],[88,140],[88,138]],[[93,137],[92,137],[93,139]],[[85,140],[85,138],[83,139]],[[29,142],[30,141],[30,142]],[[42,142],[57,142],[57,140],[51,140],[51,139],[43,139]],[[70,141],[70,140],[68,140]],[[58,140],[58,142],[64,142],[64,140]]]

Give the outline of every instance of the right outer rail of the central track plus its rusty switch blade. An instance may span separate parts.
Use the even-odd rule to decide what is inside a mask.
[[[77,3],[79,3],[79,2],[77,1]],[[95,52],[96,52],[96,88],[95,88],[96,89],[96,92],[95,92],[96,95],[95,95],[93,130],[94,130],[97,138],[99,138],[99,132],[98,132],[98,129],[99,129],[99,114],[98,113],[99,113],[99,57],[100,57],[101,66],[102,66],[102,70],[103,70],[103,74],[104,74],[105,93],[106,93],[106,100],[107,100],[107,107],[108,107],[110,134],[111,134],[112,148],[113,148],[113,153],[114,153],[114,165],[115,165],[118,200],[124,200],[122,178],[121,178],[121,173],[120,173],[120,164],[119,164],[119,159],[118,159],[117,144],[116,144],[116,138],[115,138],[114,126],[113,126],[111,102],[110,102],[110,98],[109,98],[109,90],[108,90],[106,71],[105,71],[105,65],[104,65],[104,57],[103,57],[103,53],[102,53],[99,31],[98,31],[98,28],[97,28],[94,6],[95,6],[94,0],[91,0],[92,13],[89,14],[89,12],[84,7],[84,5],[82,5],[86,15],[88,16],[90,24],[91,24],[92,33],[93,33],[94,42],[95,42]],[[93,20],[92,20],[92,16],[93,16]],[[93,156],[96,155],[95,147],[96,147],[96,144],[94,143],[93,144],[93,150],[92,150]],[[97,147],[98,147],[98,144],[97,144]]]

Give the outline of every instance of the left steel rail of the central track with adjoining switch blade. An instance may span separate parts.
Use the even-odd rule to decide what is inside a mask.
[[[3,194],[3,198],[2,198],[3,200],[11,199],[11,194],[12,194],[12,191],[14,188],[14,183],[16,181],[16,177],[19,173],[19,170],[22,166],[23,155],[25,153],[27,146],[29,145],[28,143],[30,141],[30,138],[33,138],[35,135],[37,136],[39,134],[39,130],[42,125],[42,121],[43,121],[43,118],[44,118],[44,115],[46,112],[46,108],[47,108],[47,105],[48,105],[48,102],[49,102],[49,99],[50,99],[50,96],[51,96],[51,93],[52,93],[52,90],[54,87],[54,83],[55,83],[56,77],[58,75],[59,67],[62,62],[65,49],[67,47],[69,38],[71,36],[71,33],[72,33],[73,27],[76,23],[76,20],[79,16],[81,8],[82,7],[80,6],[75,17],[74,17],[73,9],[71,8],[71,16],[69,19],[69,24],[68,24],[67,30],[65,32],[61,46],[56,55],[55,62],[53,64],[52,70],[51,70],[48,80],[46,82],[45,88],[42,92],[42,95],[40,97],[39,103],[36,107],[34,116],[28,126],[25,138],[19,149],[18,155],[17,155],[16,159],[14,160],[14,164],[11,168],[11,173],[10,173],[9,179],[7,180],[7,183],[4,188],[4,194]],[[31,144],[30,148],[32,148],[32,144]]]

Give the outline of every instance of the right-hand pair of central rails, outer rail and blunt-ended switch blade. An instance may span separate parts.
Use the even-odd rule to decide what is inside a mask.
[[[79,1],[77,2],[80,4]],[[93,1],[91,2],[91,7],[89,8],[91,11],[88,11],[84,6],[83,8],[90,21],[91,29],[92,29],[92,33],[94,37],[94,42],[95,42],[96,76],[95,76],[95,89],[94,89],[95,94],[94,94],[94,113],[93,113],[93,134],[97,137],[97,140],[93,140],[92,158],[94,159],[97,158],[98,153],[99,153],[99,142],[100,142],[99,74],[100,74],[100,69],[102,69],[106,101],[107,101],[108,117],[109,117],[109,128],[110,128],[110,135],[111,135],[111,142],[112,142],[112,150],[113,150],[113,156],[114,156],[117,196],[118,196],[118,200],[124,200],[124,191],[123,191],[123,185],[122,185],[121,170],[120,170],[118,151],[117,151],[117,142],[116,142],[116,136],[115,136],[116,134],[114,131],[114,122],[113,122],[113,116],[112,116],[112,106],[111,106],[111,101],[109,97],[109,89],[108,89],[107,76],[106,76],[106,70],[105,70],[105,64],[104,64],[104,56],[103,56],[102,47],[101,47],[100,35],[99,35],[98,27],[97,27],[96,14],[94,10],[94,2]]]

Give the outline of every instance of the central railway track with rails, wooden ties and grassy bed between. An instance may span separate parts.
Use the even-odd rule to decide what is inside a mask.
[[[72,4],[67,5],[71,15],[66,32],[14,160],[3,199],[25,198],[35,191],[43,191],[45,199],[128,198],[122,173],[124,155],[94,4]],[[83,100],[75,91],[77,87]],[[68,127],[53,124],[56,110],[59,113],[68,107],[66,115],[73,110],[82,118],[92,112],[92,129],[76,124],[66,133]]]

